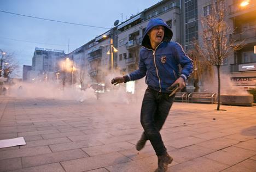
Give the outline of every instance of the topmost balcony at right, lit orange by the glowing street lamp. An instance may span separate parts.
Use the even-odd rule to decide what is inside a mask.
[[[251,0],[246,7],[241,7],[240,3],[229,5],[229,15],[231,15],[230,17],[235,17],[237,15],[249,13],[252,10],[255,10],[253,9],[256,7],[255,4],[256,4],[256,0]]]

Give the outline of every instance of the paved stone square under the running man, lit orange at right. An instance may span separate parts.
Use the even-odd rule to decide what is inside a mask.
[[[0,139],[27,145],[0,149],[1,171],[154,171],[141,101],[67,101],[0,96]],[[175,102],[161,130],[174,161],[168,171],[256,171],[256,107]],[[215,120],[214,120],[215,119]]]

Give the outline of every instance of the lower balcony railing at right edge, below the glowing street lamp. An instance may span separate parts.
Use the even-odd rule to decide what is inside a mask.
[[[230,34],[230,40],[243,41],[249,39],[256,39],[256,28],[245,30],[241,33]]]

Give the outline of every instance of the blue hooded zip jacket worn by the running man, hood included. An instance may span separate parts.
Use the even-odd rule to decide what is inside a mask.
[[[164,26],[165,34],[162,42],[153,50],[148,32],[155,26]],[[146,76],[148,87],[162,93],[170,93],[167,88],[179,77],[186,81],[193,72],[193,61],[185,54],[181,45],[170,41],[172,35],[172,30],[162,19],[151,19],[139,52],[139,69],[125,76],[125,80],[134,81]],[[181,72],[179,65],[182,67]]]

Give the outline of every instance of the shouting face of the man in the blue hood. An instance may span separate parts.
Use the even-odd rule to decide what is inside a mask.
[[[164,38],[164,34],[165,34],[164,26],[155,26],[149,31],[148,36],[151,42],[154,42],[155,44],[158,45],[162,42],[162,39]]]

